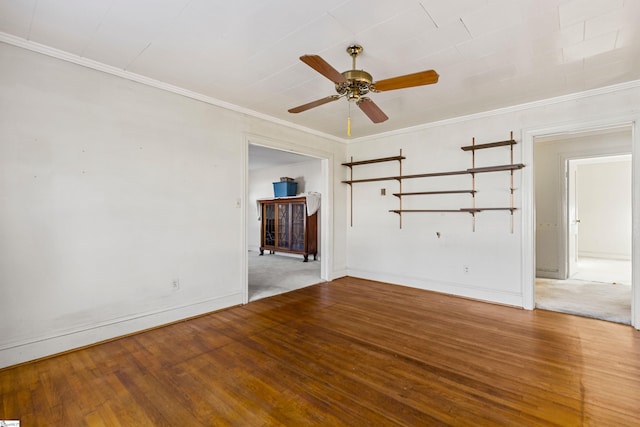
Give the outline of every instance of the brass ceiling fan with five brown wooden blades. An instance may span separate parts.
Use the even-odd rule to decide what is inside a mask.
[[[378,107],[369,97],[363,96],[369,92],[384,92],[388,90],[404,89],[414,86],[429,85],[438,82],[438,73],[434,70],[420,71],[418,73],[404,76],[392,77],[390,79],[373,81],[371,74],[364,70],[356,70],[356,57],[362,53],[362,46],[357,44],[347,47],[347,53],[352,58],[352,69],[338,72],[328,62],[318,55],[303,55],[300,60],[331,80],[336,85],[337,95],[327,96],[307,104],[300,105],[288,110],[290,113],[300,113],[311,108],[324,105],[342,97],[346,97],[349,102],[355,102],[360,110],[371,119],[373,123],[381,123],[389,117]],[[349,121],[349,134],[350,134]]]

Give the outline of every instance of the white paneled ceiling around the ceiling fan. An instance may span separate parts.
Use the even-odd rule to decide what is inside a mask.
[[[347,139],[318,54],[374,80],[435,69],[436,85],[374,93],[352,138],[640,79],[640,0],[0,0],[0,32]],[[5,41],[7,37],[4,37]]]

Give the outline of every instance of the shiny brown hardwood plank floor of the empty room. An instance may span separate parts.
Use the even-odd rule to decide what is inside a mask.
[[[640,332],[343,278],[0,371],[22,426],[639,425]]]

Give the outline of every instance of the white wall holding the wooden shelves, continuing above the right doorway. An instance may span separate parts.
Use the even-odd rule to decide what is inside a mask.
[[[419,174],[470,167],[471,155],[460,147],[471,143],[508,139],[513,131],[520,142],[532,129],[567,123],[597,122],[607,117],[637,114],[640,88],[616,88],[585,97],[566,97],[468,118],[434,123],[395,135],[368,138],[348,146],[354,160],[387,157],[403,150],[407,157],[404,174]],[[523,161],[523,144],[515,146],[514,161]],[[508,149],[501,147],[477,153],[477,166],[509,162]],[[515,206],[521,208],[523,171],[515,173]],[[354,169],[354,178],[397,174],[394,164],[368,165]],[[344,177],[348,176],[344,168]],[[478,175],[477,206],[504,206],[509,201],[508,172]],[[466,180],[466,181],[465,181]],[[425,178],[404,181],[404,191],[462,189],[469,176]],[[523,226],[523,211],[515,212],[515,232],[510,232],[509,214],[482,212],[476,231],[464,213],[412,213],[404,215],[403,228],[389,209],[398,206],[394,196],[380,196],[380,188],[397,191],[394,181],[354,185],[353,227],[348,228],[348,272],[373,280],[415,286],[499,303],[525,306],[523,251],[530,244]],[[528,186],[531,184],[527,183]],[[348,197],[348,196],[347,196]],[[466,198],[465,198],[466,197]],[[348,204],[348,203],[347,203]],[[405,209],[437,209],[469,206],[468,196],[416,196],[406,198]],[[440,233],[440,238],[436,233]],[[527,239],[529,237],[527,236]],[[533,256],[533,254],[531,255]],[[465,273],[465,268],[468,272]]]

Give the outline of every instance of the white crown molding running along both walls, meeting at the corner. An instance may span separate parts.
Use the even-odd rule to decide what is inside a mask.
[[[4,42],[13,46],[17,46],[17,47],[21,47],[23,49],[27,49],[27,50],[31,50],[33,52],[38,52],[41,53],[43,55],[48,55],[51,56],[53,58],[57,58],[57,59],[61,59],[63,61],[68,61],[77,65],[81,65],[83,67],[87,67],[87,68],[91,68],[94,70],[98,70],[98,71],[102,71],[104,73],[108,73],[108,74],[113,74],[115,76],[118,77],[122,77],[124,79],[127,80],[131,80],[131,81],[135,81],[141,84],[145,84],[151,87],[155,87],[157,89],[162,89],[162,90],[166,90],[168,92],[172,92],[172,93],[176,93],[178,95],[183,95],[186,96],[188,98],[192,98],[192,99],[196,99],[202,102],[206,102],[207,104],[211,104],[211,105],[215,105],[221,108],[225,108],[227,110],[231,110],[231,111],[235,111],[241,114],[246,114],[248,116],[251,117],[255,117],[258,119],[262,119],[262,120],[266,120],[272,123],[276,123],[291,129],[296,129],[305,133],[309,133],[312,135],[316,135],[316,136],[320,136],[322,138],[327,138],[331,141],[336,141],[336,142],[340,142],[343,144],[350,144],[353,142],[362,142],[362,141],[371,141],[371,140],[376,140],[376,139],[381,139],[381,138],[388,138],[391,136],[396,136],[396,135],[402,135],[402,134],[406,134],[406,133],[411,133],[411,132],[417,132],[420,130],[424,130],[424,129],[429,129],[429,128],[434,128],[434,127],[439,127],[439,126],[445,126],[445,125],[452,125],[452,124],[458,124],[458,123],[463,123],[466,121],[470,121],[470,120],[477,120],[477,119],[484,119],[484,118],[488,118],[488,117],[493,117],[493,116],[499,116],[502,114],[507,114],[507,113],[511,113],[511,112],[517,112],[517,111],[523,111],[523,110],[528,110],[531,108],[537,108],[537,107],[545,107],[548,105],[553,105],[553,104],[558,104],[558,103],[562,103],[562,102],[568,102],[568,101],[575,101],[575,100],[580,100],[580,99],[584,99],[584,98],[589,98],[592,96],[598,96],[598,95],[604,95],[604,94],[608,94],[608,93],[614,93],[614,92],[619,92],[619,91],[625,91],[625,90],[629,90],[629,89],[633,89],[633,88],[637,88],[640,87],[640,80],[632,80],[632,81],[628,81],[628,82],[624,82],[624,83],[619,83],[619,84],[615,84],[615,85],[611,85],[611,86],[606,86],[606,87],[602,87],[602,88],[597,88],[597,89],[591,89],[591,90],[586,90],[583,92],[575,92],[575,93],[571,93],[571,94],[567,94],[567,95],[561,95],[561,96],[557,96],[554,98],[547,98],[547,99],[542,99],[542,100],[538,100],[538,101],[532,101],[532,102],[526,102],[523,104],[518,104],[518,105],[512,105],[512,106],[508,106],[508,107],[503,107],[503,108],[497,108],[495,110],[489,110],[489,111],[482,111],[482,112],[478,112],[478,113],[473,113],[473,114],[468,114],[466,116],[458,116],[458,117],[453,117],[450,119],[444,119],[444,120],[439,120],[439,121],[435,121],[435,122],[429,122],[429,123],[424,123],[421,125],[417,125],[417,126],[412,126],[412,127],[408,127],[408,128],[403,128],[403,129],[397,129],[397,130],[392,130],[389,132],[384,132],[384,133],[379,133],[376,135],[370,135],[370,136],[363,136],[363,137],[359,137],[359,138],[353,138],[353,139],[345,139],[345,138],[340,138],[337,137],[335,135],[330,135],[324,132],[320,132],[317,131],[315,129],[311,129],[305,126],[300,126],[297,125],[295,123],[286,121],[286,120],[282,120],[282,119],[278,119],[275,118],[273,116],[269,116],[263,113],[259,113],[257,111],[254,110],[250,110],[247,108],[243,108],[240,107],[238,105],[235,104],[231,104],[228,102],[224,102],[221,101],[219,99],[210,97],[210,96],[206,96],[203,95],[201,93],[197,93],[197,92],[193,92],[178,86],[174,86],[174,85],[170,85],[168,83],[165,82],[161,82],[159,80],[155,80],[155,79],[151,79],[149,77],[145,77],[142,76],[140,74],[136,74],[136,73],[132,73],[130,71],[127,70],[123,70],[121,68],[117,68],[117,67],[113,67],[110,65],[106,65],[103,64],[101,62],[98,61],[94,61],[92,59],[89,58],[85,58],[82,56],[78,56],[69,52],[65,52],[63,50],[60,49],[55,49],[40,43],[36,43],[30,40],[26,40],[23,39],[21,37],[16,37],[14,35],[8,34],[8,33],[4,33],[0,31],[0,42]]]

